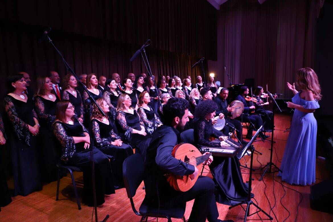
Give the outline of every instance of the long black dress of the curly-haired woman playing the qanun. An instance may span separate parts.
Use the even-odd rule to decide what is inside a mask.
[[[198,146],[220,147],[220,143],[209,141],[209,136],[218,138],[213,130],[211,120],[194,121],[194,142]],[[247,199],[248,186],[243,182],[238,158],[214,156],[214,161],[209,165],[216,184],[216,201],[221,204],[234,205]],[[252,195],[253,196],[253,195]]]

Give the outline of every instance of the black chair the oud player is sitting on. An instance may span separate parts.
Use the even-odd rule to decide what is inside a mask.
[[[167,218],[168,222],[171,222],[171,218],[183,218],[185,222],[186,220],[184,213],[186,205],[182,207],[174,206],[168,209],[158,209],[158,207],[148,204],[148,201],[144,199],[139,208],[139,211],[135,209],[133,197],[135,196],[138,187],[144,179],[144,171],[145,166],[140,154],[136,153],[125,159],[123,163],[125,188],[127,196],[130,198],[133,212],[136,215],[141,216],[140,221],[142,222],[144,219],[147,221],[148,217],[162,217]]]

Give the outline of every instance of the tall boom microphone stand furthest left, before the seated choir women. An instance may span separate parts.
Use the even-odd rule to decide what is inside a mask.
[[[80,79],[78,78],[78,76],[75,74],[75,72],[73,71],[73,69],[68,65],[67,61],[65,60],[65,58],[63,57],[63,55],[61,54],[61,52],[57,49],[57,47],[54,45],[52,39],[46,34],[44,33],[43,35],[46,35],[46,39],[49,43],[51,43],[51,45],[54,47],[54,49],[58,52],[58,54],[60,55],[61,59],[63,60],[66,70],[67,72],[71,73],[72,76],[74,76],[74,78],[76,79],[76,81],[81,84],[81,86],[83,86],[83,89],[86,91],[86,93],[89,95],[89,98],[85,101],[85,104],[89,103],[91,104],[92,102],[98,107],[99,111],[102,113],[102,115],[104,116],[105,113],[103,112],[103,110],[98,106],[98,104],[96,103],[95,99],[93,98],[92,94],[89,92],[89,90],[83,85],[83,83],[80,81]],[[90,105],[88,106],[88,110],[89,110],[89,116],[90,116]],[[91,127],[90,127],[91,128]],[[91,135],[91,131],[90,131],[90,135]],[[94,210],[95,210],[95,221],[98,222],[98,218],[97,218],[97,203],[96,203],[96,187],[95,187],[95,164],[94,164],[94,155],[93,155],[93,149],[94,149],[94,144],[92,143],[92,138],[90,136],[90,158],[91,158],[91,167],[92,167],[92,185],[93,185],[93,196],[94,196]],[[105,222],[107,219],[109,218],[109,214],[106,215],[106,217],[104,218],[104,220],[102,222]]]

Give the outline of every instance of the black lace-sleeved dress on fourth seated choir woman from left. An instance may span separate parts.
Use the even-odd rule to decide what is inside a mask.
[[[145,124],[146,132],[153,135],[153,132],[155,131],[157,126],[159,124],[162,124],[162,122],[161,122],[160,118],[157,115],[155,115],[152,108],[150,106],[148,106],[148,107],[149,107],[149,110],[147,110],[143,107],[140,107],[138,109],[138,114],[140,116],[140,119]],[[155,118],[155,124],[154,124],[154,118]]]

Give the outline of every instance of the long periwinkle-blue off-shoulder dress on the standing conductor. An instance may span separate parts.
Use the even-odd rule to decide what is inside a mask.
[[[318,109],[316,100],[306,101],[298,92],[292,102],[304,109]],[[279,176],[290,184],[308,185],[316,181],[316,139],[317,120],[313,113],[295,109],[284,150]]]

